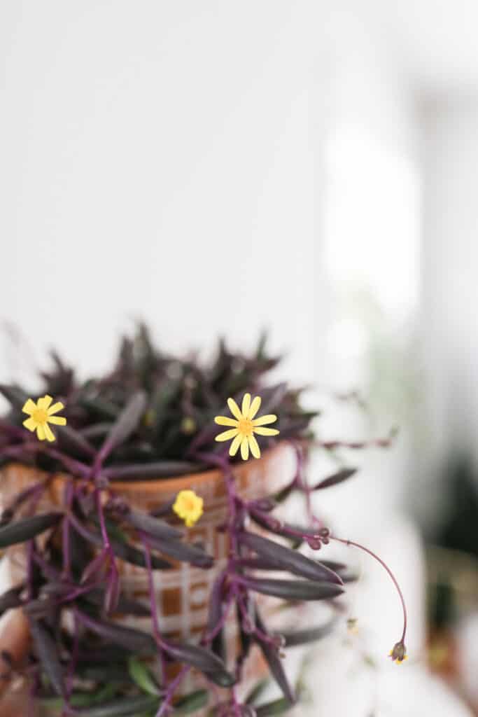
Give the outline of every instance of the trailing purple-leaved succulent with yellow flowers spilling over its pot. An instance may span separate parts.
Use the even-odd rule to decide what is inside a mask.
[[[0,386],[11,403],[0,420],[0,465],[20,462],[40,469],[36,482],[5,506],[0,521],[0,548],[24,543],[26,549],[24,580],[0,597],[0,611],[21,607],[29,619],[32,651],[15,669],[29,680],[34,701],[65,716],[164,717],[208,705],[216,717],[285,713],[299,695],[287,678],[281,650],[320,639],[330,625],[278,635],[267,627],[255,596],[333,605],[350,579],[345,566],[302,554],[304,543],[314,551],[333,540],[355,546],[386,569],[403,607],[403,633],[390,654],[397,663],[406,659],[406,607],[391,570],[373,551],[336,537],[312,512],[312,493],[350,478],[355,469],[307,483],[307,450],[330,446],[310,433],[315,414],[300,407],[300,391],[264,385],[263,374],[277,364],[264,352],[264,340],[249,357],[229,353],[221,342],[216,361],[205,368],[196,359],[160,353],[140,326],[133,341],[123,340],[115,368],[102,379],[79,384],[56,354],[54,362],[55,370],[43,376],[46,394],[37,402],[18,386]],[[252,400],[249,391],[260,397]],[[226,405],[233,417],[220,414]],[[277,417],[279,428],[269,427]],[[214,422],[227,429],[217,435]],[[56,435],[49,424],[58,427]],[[247,500],[237,490],[236,462],[260,457],[256,436],[267,449],[277,435],[295,449],[295,478],[276,495]],[[228,440],[229,449],[223,443]],[[213,568],[213,556],[185,540],[178,526],[178,519],[189,528],[201,520],[204,500],[181,490],[161,511],[145,513],[111,482],[211,468],[221,470],[226,484],[227,519],[220,529],[229,558],[211,589],[199,644],[178,642],[161,625],[155,575],[171,569],[171,560]],[[62,504],[40,512],[42,496],[60,470],[68,474]],[[274,515],[292,493],[305,497],[307,526]],[[292,547],[285,546],[287,541]],[[123,594],[120,561],[144,569],[149,605]],[[118,615],[149,617],[150,632],[119,624]],[[231,655],[225,627],[234,620],[240,647]],[[253,645],[283,695],[259,706],[259,688],[245,698],[238,689]],[[13,669],[9,655],[3,659]],[[173,665],[181,667],[172,673]],[[191,669],[203,675],[204,689],[178,696]]]

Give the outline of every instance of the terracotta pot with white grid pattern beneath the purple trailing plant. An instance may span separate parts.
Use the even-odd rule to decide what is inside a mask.
[[[295,475],[295,451],[289,444],[279,444],[266,452],[259,460],[249,460],[234,466],[237,489],[243,498],[261,498],[284,488]],[[34,480],[50,478],[47,490],[39,502],[38,511],[51,510],[52,505],[62,505],[64,474],[53,477],[17,463],[0,470],[1,493],[4,504]],[[187,640],[201,635],[206,626],[208,596],[214,579],[224,568],[228,554],[227,538],[216,528],[227,517],[227,497],[224,478],[220,470],[183,475],[179,478],[161,480],[135,480],[131,483],[111,483],[112,490],[128,499],[130,505],[143,511],[156,511],[173,500],[179,490],[194,490],[204,498],[204,515],[188,530],[186,540],[204,543],[206,550],[214,555],[214,567],[209,570],[195,568],[186,563],[177,564],[169,571],[154,573],[158,616],[161,630],[171,637]],[[11,579],[20,581],[25,574],[26,555],[23,546],[9,550]],[[122,589],[126,596],[148,604],[148,576],[145,569],[118,561]],[[150,618],[122,617],[125,625],[150,631]],[[236,641],[235,621],[228,625],[228,643]],[[249,663],[249,673],[257,670],[257,664]],[[257,676],[257,675],[256,675]],[[247,681],[247,673],[244,675]],[[191,681],[192,680],[192,681]],[[183,690],[194,686],[193,676]]]

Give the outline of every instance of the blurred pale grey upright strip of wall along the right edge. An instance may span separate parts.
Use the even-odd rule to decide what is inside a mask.
[[[424,475],[434,480],[450,452],[478,460],[478,98],[429,101],[423,133]]]

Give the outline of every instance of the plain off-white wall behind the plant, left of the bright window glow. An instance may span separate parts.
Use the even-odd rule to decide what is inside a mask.
[[[271,326],[312,376],[304,9],[1,4],[1,316],[37,359],[99,369],[143,316],[170,348]]]

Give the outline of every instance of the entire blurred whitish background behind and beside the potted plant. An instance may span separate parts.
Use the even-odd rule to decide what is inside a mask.
[[[399,606],[367,564],[312,714],[478,714],[477,21],[473,0],[0,6],[1,380],[51,346],[101,371],[139,317],[205,355],[267,327],[322,437],[400,429],[319,507],[396,569],[410,659],[383,664]]]

